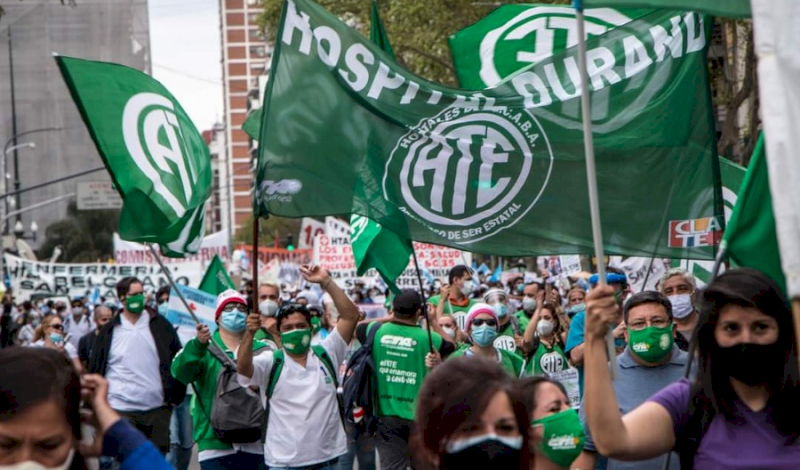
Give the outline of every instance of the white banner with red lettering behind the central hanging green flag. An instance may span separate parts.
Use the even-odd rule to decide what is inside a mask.
[[[454,248],[414,242],[414,252],[417,254],[422,282],[426,284],[433,283],[436,279],[447,282],[447,274],[451,268],[460,264],[472,265],[472,253]],[[361,280],[365,284],[378,281],[378,273],[374,269],[364,273],[364,276],[356,274],[356,262],[349,235],[317,236],[314,243],[314,264],[327,269],[331,278],[343,288],[352,287],[356,280]],[[413,261],[409,262],[395,283],[401,289],[413,289],[419,286]]]

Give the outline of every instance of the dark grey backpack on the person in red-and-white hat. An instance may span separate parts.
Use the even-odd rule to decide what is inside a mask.
[[[258,394],[239,384],[236,379],[236,364],[219,347],[210,347],[208,351],[222,363],[222,370],[217,375],[211,414],[203,406],[196,388],[195,394],[198,396],[197,403],[214,430],[214,436],[226,444],[258,442],[266,423],[261,399]]]

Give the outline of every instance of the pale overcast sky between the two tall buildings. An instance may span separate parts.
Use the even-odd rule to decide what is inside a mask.
[[[219,0],[150,0],[153,76],[199,131],[223,120]]]

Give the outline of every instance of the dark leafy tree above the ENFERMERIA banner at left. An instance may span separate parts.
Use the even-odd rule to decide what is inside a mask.
[[[119,228],[118,210],[80,211],[75,202],[67,207],[67,217],[45,229],[45,240],[37,251],[40,259],[50,258],[61,247],[59,261],[95,262],[114,255],[114,232]]]

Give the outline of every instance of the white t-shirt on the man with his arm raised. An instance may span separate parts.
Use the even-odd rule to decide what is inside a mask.
[[[347,343],[334,329],[320,345],[334,366],[341,364]],[[264,460],[268,467],[305,467],[335,459],[347,453],[347,438],[339,416],[336,386],[321,360],[308,351],[302,367],[284,354],[283,369],[270,400]],[[266,402],[266,388],[274,353],[264,352],[253,358],[253,377],[239,375],[242,386],[261,388]]]

